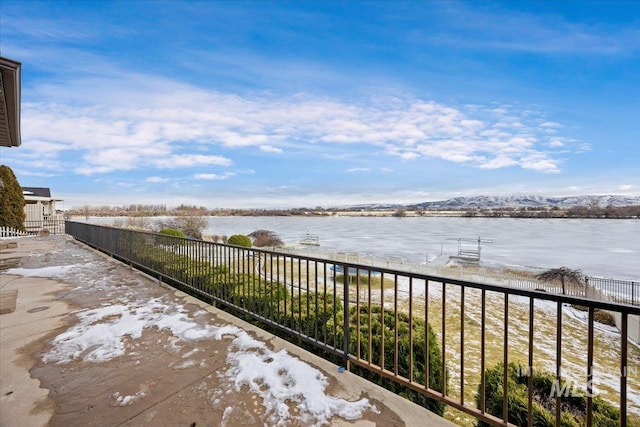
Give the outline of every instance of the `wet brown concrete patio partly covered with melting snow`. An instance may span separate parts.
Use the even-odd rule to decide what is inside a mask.
[[[3,427],[453,425],[68,237],[15,241],[0,251]]]

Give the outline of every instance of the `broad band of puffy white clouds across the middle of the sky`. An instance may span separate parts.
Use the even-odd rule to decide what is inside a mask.
[[[136,74],[117,84],[106,77],[80,79],[71,86],[41,86],[35,93],[43,99],[25,103],[29,126],[20,156],[41,151],[52,161],[67,159],[58,166],[69,169],[69,159],[80,154],[82,161],[71,169],[85,175],[227,167],[233,161],[219,154],[223,150],[294,149],[346,159],[363,147],[403,160],[549,172],[560,162],[545,148],[578,144],[550,135],[546,130],[560,125],[539,124],[543,114],[522,106],[458,108],[406,97],[359,103],[304,94],[243,97]],[[337,154],[329,152],[331,146],[352,148]]]

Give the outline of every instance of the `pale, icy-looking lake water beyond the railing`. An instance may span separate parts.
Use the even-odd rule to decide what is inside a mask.
[[[113,218],[91,218],[113,223]],[[586,275],[640,280],[640,221],[434,217],[209,217],[204,234],[274,231],[287,244],[306,233],[320,251],[354,252],[408,262],[455,255],[458,238],[491,240],[482,261],[506,266],[581,269]]]

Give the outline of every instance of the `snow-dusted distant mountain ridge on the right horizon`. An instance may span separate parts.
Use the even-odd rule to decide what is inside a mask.
[[[568,196],[543,197],[536,195],[515,196],[474,196],[456,197],[449,200],[424,202],[412,207],[424,209],[460,209],[460,208],[523,208],[554,207],[571,208],[574,206],[639,206],[640,196]]]

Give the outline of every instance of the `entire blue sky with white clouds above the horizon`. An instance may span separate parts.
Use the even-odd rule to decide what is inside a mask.
[[[65,207],[640,195],[640,2],[4,0]]]

